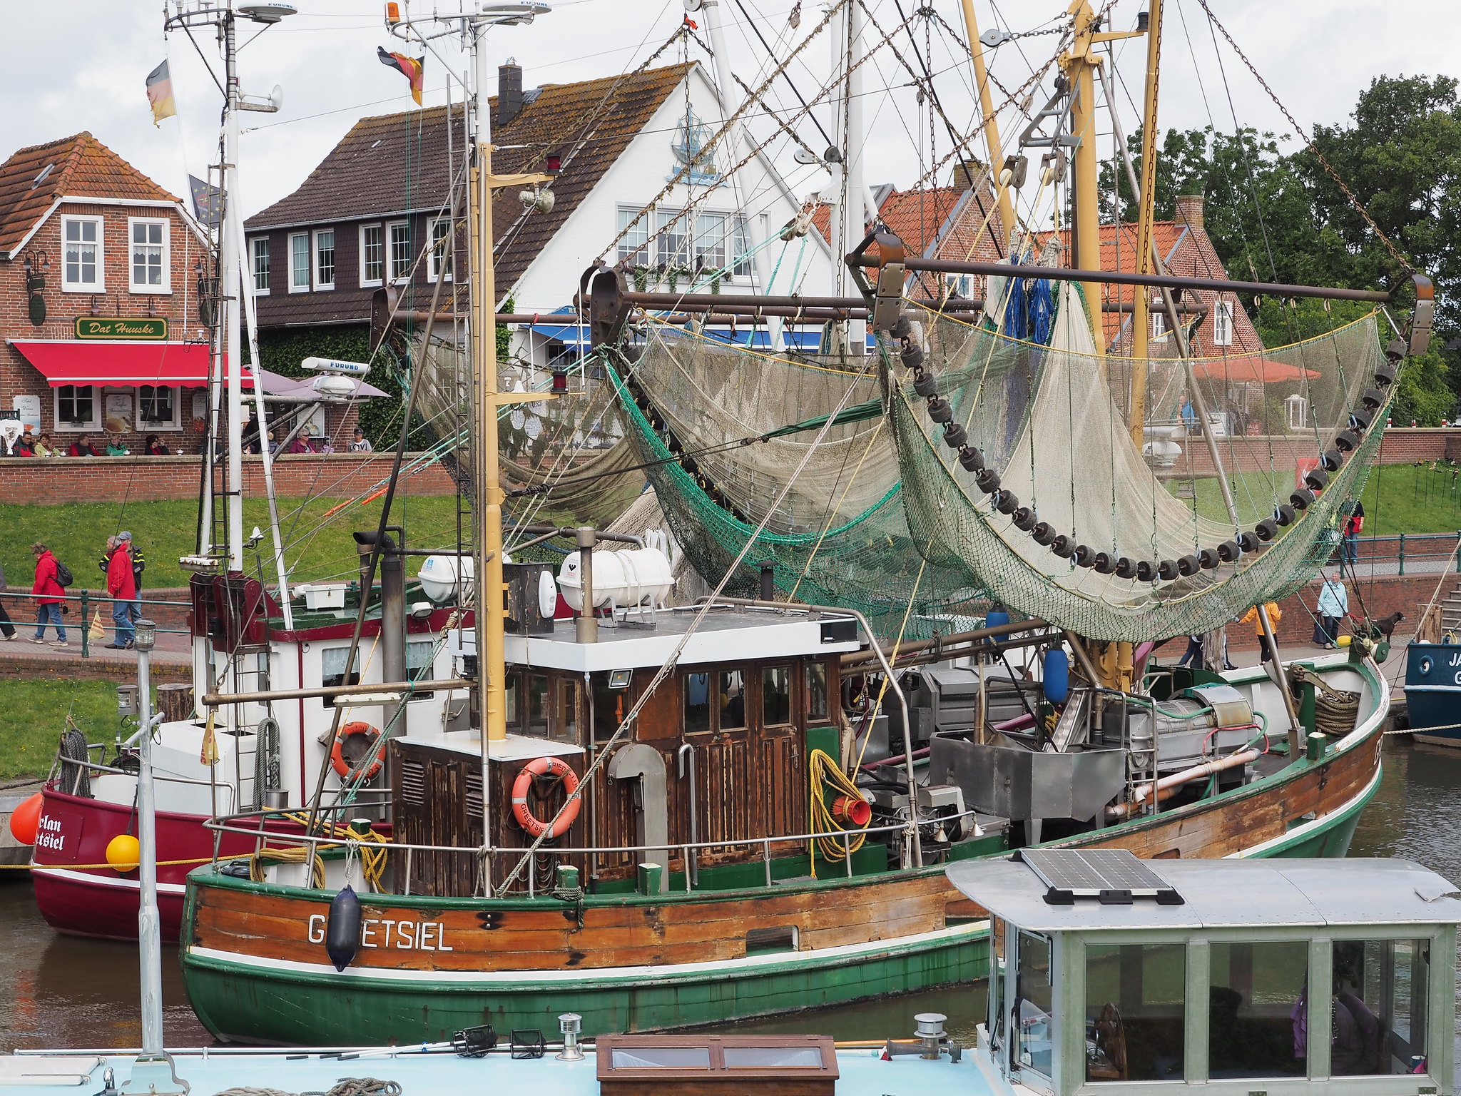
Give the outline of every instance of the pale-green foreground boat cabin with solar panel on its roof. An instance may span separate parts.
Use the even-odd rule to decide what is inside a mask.
[[[1454,1090],[1461,902],[1432,871],[1031,849],[948,877],[989,910],[979,1046],[1011,1087]]]

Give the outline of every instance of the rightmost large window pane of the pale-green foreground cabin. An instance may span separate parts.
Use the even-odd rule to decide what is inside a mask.
[[[1332,947],[1330,1076],[1414,1073],[1427,1057],[1430,941],[1335,940]]]

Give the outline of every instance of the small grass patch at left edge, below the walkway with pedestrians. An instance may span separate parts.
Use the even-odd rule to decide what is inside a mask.
[[[115,684],[0,681],[0,780],[45,776],[67,712],[89,742],[112,741],[120,726]]]

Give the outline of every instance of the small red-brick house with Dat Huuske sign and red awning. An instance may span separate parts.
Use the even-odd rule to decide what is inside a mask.
[[[193,453],[209,241],[181,202],[91,133],[0,165],[0,408],[69,446],[148,434]]]

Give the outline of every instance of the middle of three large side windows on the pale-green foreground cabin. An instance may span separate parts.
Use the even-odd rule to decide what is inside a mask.
[[[1309,943],[1214,941],[1208,954],[1208,1077],[1303,1077]]]

